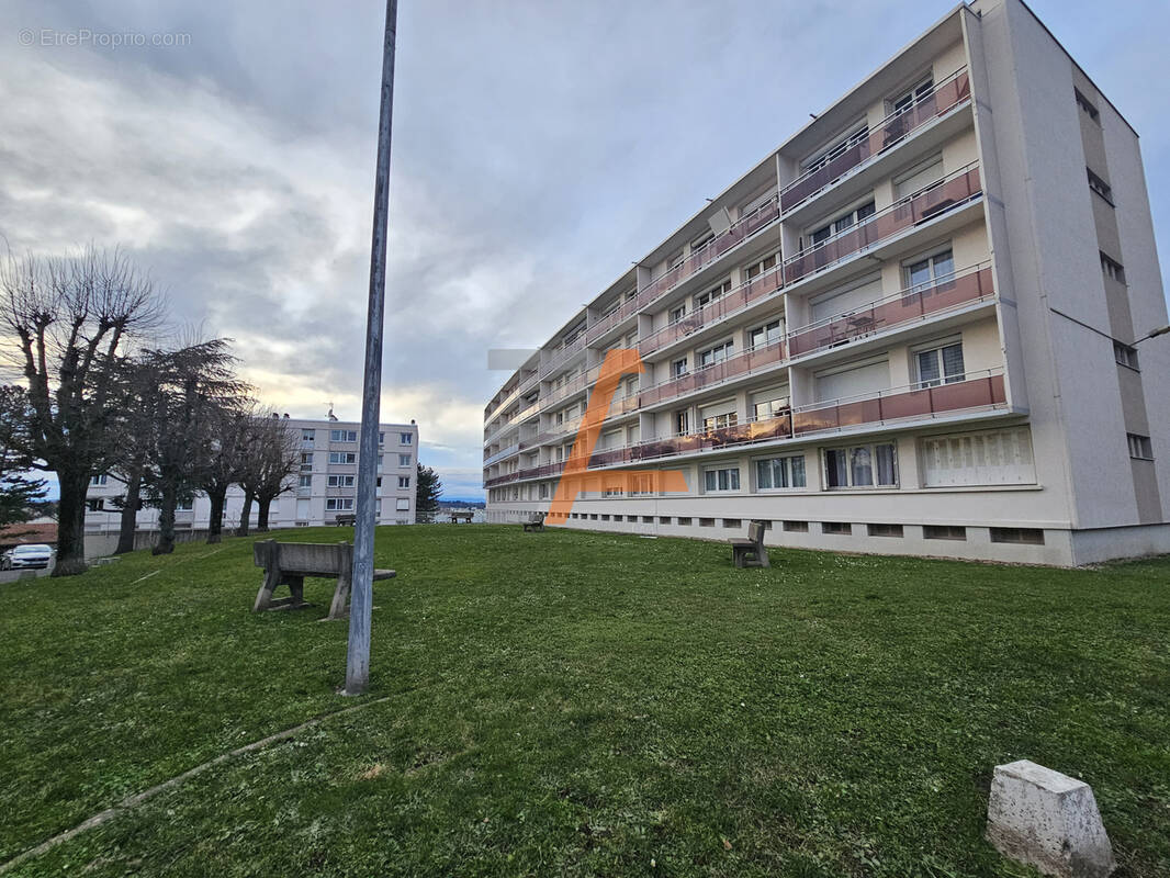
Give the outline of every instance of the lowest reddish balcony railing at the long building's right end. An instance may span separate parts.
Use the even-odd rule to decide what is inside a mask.
[[[952,414],[1006,402],[1003,370],[986,369],[968,372],[963,380],[950,384],[929,387],[909,385],[801,405],[792,411],[792,433],[804,435],[889,420]]]

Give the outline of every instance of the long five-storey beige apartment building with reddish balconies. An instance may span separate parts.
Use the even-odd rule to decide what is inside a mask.
[[[484,410],[489,519],[549,507],[605,354],[636,348],[566,527],[1170,551],[1170,336],[1141,341],[1165,323],[1136,132],[1020,0],[976,0],[511,376]],[[631,468],[688,491],[607,483]]]

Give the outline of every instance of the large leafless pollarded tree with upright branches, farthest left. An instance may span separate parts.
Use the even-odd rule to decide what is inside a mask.
[[[27,384],[28,446],[61,488],[54,576],[85,569],[85,492],[116,459],[119,352],[159,325],[163,303],[122,251],[9,256],[0,267],[0,331]]]

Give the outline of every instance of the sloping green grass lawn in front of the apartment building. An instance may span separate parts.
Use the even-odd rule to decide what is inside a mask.
[[[281,539],[336,541],[336,529]],[[379,530],[371,695],[11,874],[1028,876],[994,764],[1170,874],[1170,560],[1100,570],[519,527]],[[145,577],[145,578],[144,578]],[[345,625],[254,615],[252,541],[0,585],[0,862],[359,704]]]

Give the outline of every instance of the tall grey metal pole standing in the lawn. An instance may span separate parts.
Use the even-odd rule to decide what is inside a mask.
[[[358,503],[353,534],[353,584],[345,694],[360,695],[370,684],[370,611],[373,604],[373,524],[378,502],[378,421],[381,396],[381,334],[386,297],[386,214],[390,208],[390,131],[394,109],[394,36],[398,0],[386,0],[386,42],[381,56],[381,112],[378,167],[373,188],[373,241],[370,248],[370,309],[366,318],[365,377],[362,383],[362,433],[358,439]]]

